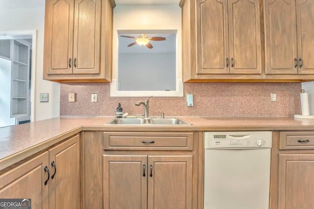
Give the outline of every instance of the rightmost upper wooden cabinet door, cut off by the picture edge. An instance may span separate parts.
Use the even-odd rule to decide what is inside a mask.
[[[314,74],[314,1],[296,0],[298,73]]]

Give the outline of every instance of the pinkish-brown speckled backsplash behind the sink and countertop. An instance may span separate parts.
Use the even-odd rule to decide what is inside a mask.
[[[160,116],[293,116],[301,114],[301,83],[184,83],[184,97],[152,97],[149,115]],[[77,93],[76,102],[68,102]],[[98,102],[91,102],[91,94]],[[186,93],[194,106],[187,107]],[[277,93],[277,102],[270,101]],[[61,83],[60,116],[115,116],[118,103],[123,113],[143,114],[135,106],[146,97],[110,97],[109,83]]]

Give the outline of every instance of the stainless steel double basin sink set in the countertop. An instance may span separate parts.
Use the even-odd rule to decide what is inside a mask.
[[[112,125],[192,125],[181,118],[114,118],[106,124]]]

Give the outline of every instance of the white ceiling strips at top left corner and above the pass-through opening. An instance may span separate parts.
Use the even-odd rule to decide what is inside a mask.
[[[116,4],[178,4],[180,0],[115,0]],[[45,0],[0,0],[0,8],[45,7]]]

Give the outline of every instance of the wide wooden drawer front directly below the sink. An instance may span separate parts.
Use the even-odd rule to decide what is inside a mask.
[[[104,132],[105,150],[192,150],[192,132]]]

